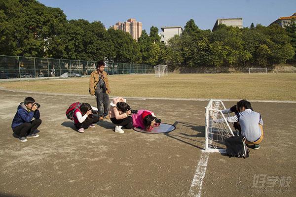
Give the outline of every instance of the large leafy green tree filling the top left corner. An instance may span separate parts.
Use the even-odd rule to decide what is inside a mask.
[[[36,0],[1,0],[0,11],[13,28],[9,40],[14,55],[47,56],[51,41],[67,22],[61,9],[46,7]]]

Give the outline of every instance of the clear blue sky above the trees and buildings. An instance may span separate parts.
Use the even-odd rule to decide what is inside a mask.
[[[268,26],[296,12],[296,0],[39,0],[64,10],[67,19],[101,21],[106,28],[135,18],[149,33],[151,26],[182,26],[190,19],[203,30],[212,30],[218,18],[243,18]]]

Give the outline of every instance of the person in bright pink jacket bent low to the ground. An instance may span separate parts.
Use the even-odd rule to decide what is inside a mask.
[[[157,119],[152,111],[141,109],[137,113],[132,114],[133,126],[141,128],[145,131],[152,131],[154,127],[158,127],[161,123],[160,119]]]

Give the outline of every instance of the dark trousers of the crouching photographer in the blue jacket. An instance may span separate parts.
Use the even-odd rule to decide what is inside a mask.
[[[18,137],[26,137],[29,133],[37,130],[37,128],[41,125],[41,119],[35,119],[30,123],[23,123],[12,129],[14,134]]]

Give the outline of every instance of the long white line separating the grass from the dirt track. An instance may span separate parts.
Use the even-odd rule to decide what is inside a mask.
[[[88,97],[92,98],[93,96],[90,95],[74,95],[74,94],[62,94],[62,93],[45,93],[45,92],[34,92],[34,91],[23,91],[23,90],[10,90],[6,89],[4,87],[0,87],[0,90],[4,91],[10,91],[10,92],[20,92],[20,93],[32,93],[32,94],[41,94],[41,95],[55,95],[55,96],[74,96],[74,97]],[[117,96],[110,97],[115,98]],[[187,101],[208,101],[210,99],[185,99],[185,98],[165,98],[165,97],[148,97],[148,98],[143,98],[143,97],[124,97],[125,99],[135,99],[135,100],[146,100],[146,99],[151,99],[151,100],[187,100]],[[219,99],[222,101],[235,101],[237,102],[240,99]],[[250,102],[276,102],[276,103],[296,103],[294,100],[249,100]]]

